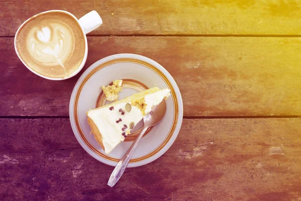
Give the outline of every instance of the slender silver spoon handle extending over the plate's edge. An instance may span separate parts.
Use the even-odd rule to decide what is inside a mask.
[[[147,128],[148,127],[144,127],[142,132],[139,134],[139,136],[136,138],[136,140],[133,142],[133,144],[127,150],[125,155],[121,158],[119,163],[116,165],[115,169],[113,170],[113,172],[109,178],[109,181],[108,181],[109,186],[113,187],[117,183],[117,181],[120,179],[120,177],[122,176],[131,156],[133,155],[136,147],[138,146],[138,144],[139,144],[142,136],[144,135],[145,131],[147,130]]]

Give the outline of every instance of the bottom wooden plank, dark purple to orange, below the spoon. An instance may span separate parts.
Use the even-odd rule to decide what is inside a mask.
[[[0,131],[5,200],[301,198],[301,119],[185,119],[162,157],[113,188],[113,167],[80,147],[68,119],[1,119]]]

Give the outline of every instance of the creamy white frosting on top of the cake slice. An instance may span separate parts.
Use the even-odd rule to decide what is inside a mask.
[[[163,89],[146,94],[144,96],[144,102],[146,104],[145,115],[152,111],[154,106],[160,104],[162,100],[169,95],[170,89]],[[130,104],[130,102],[128,103]],[[126,104],[127,103],[119,103],[114,105],[114,109],[112,109],[110,105],[107,105],[103,108],[90,110],[87,114],[101,133],[105,153],[111,152],[117,144],[124,140],[122,133],[125,132],[126,135],[129,133],[129,125],[131,122],[136,125],[143,118],[140,109],[135,106],[131,106],[131,111],[126,112]],[[120,109],[124,112],[124,115],[122,115],[122,112],[119,112]],[[119,119],[121,119],[121,121],[116,123]],[[126,125],[126,129],[123,129],[124,125]]]

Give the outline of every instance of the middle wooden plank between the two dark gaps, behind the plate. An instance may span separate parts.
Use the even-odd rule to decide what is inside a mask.
[[[50,81],[30,72],[0,43],[0,116],[68,116],[79,75]],[[162,64],[182,92],[185,116],[300,116],[300,38],[88,37],[86,69],[116,53]]]

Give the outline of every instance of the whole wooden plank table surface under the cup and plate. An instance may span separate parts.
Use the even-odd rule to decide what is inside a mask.
[[[141,54],[182,92],[174,145],[113,188],[113,167],[89,156],[71,130],[81,73],[46,80],[15,53],[22,22],[53,9],[101,15],[84,69]],[[300,11],[298,0],[1,1],[0,200],[301,200]]]

